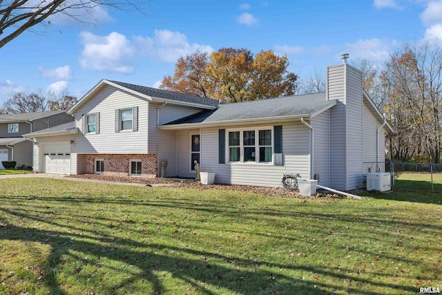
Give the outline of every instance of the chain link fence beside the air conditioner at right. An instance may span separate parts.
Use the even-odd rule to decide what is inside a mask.
[[[442,191],[442,164],[365,162],[364,171],[391,173],[391,185],[396,189]]]

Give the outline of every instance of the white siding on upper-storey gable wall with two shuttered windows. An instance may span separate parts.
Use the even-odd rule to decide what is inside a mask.
[[[116,133],[115,110],[134,107],[138,108],[138,131]],[[145,99],[105,85],[75,111],[75,126],[83,134],[81,117],[89,113],[99,113],[99,135],[78,137],[73,153],[147,153],[148,102]]]

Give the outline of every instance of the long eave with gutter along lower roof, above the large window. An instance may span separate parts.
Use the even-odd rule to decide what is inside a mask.
[[[185,124],[173,124],[173,125],[162,125],[157,126],[158,129],[163,130],[177,130],[177,129],[194,129],[200,127],[214,127],[214,126],[225,126],[235,124],[235,126],[239,125],[249,125],[251,123],[265,124],[265,123],[278,123],[278,122],[287,122],[287,121],[296,121],[300,120],[300,118],[310,118],[311,114],[302,114],[302,115],[288,115],[288,116],[280,116],[280,117],[260,117],[260,118],[249,118],[249,119],[240,119],[240,120],[224,120],[224,121],[216,121],[216,122],[200,122],[200,123],[185,123]]]

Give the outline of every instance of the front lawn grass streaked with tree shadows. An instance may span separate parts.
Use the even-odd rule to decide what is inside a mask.
[[[0,294],[442,288],[442,195],[366,197],[0,180]]]

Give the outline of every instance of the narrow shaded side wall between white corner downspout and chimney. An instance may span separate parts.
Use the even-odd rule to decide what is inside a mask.
[[[319,184],[330,186],[330,110],[311,119],[315,133],[314,142],[314,174],[319,175]]]

